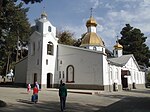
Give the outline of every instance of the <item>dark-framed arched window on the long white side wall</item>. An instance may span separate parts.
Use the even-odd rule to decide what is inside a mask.
[[[66,69],[66,82],[67,83],[74,83],[74,67],[69,65]]]

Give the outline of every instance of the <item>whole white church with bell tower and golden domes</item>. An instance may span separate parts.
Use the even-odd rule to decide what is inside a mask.
[[[96,20],[86,22],[87,32],[81,46],[58,43],[56,27],[46,13],[36,21],[36,31],[30,36],[28,56],[15,67],[15,84],[34,84],[41,89],[58,88],[60,81],[67,88],[121,91],[145,87],[143,72],[132,54],[123,55],[123,46],[116,42],[113,57],[96,33]]]

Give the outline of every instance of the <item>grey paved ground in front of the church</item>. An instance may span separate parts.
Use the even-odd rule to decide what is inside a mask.
[[[68,91],[65,112],[150,112],[149,89],[109,93]],[[0,87],[0,100],[7,103],[0,107],[0,112],[60,112],[57,89],[40,91],[37,104],[30,102],[31,95],[25,88]]]

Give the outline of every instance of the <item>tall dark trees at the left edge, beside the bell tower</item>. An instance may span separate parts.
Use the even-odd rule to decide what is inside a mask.
[[[30,24],[26,15],[28,9],[22,8],[23,3],[15,5],[12,0],[7,1],[1,8],[0,16],[0,66],[6,71],[3,74],[7,74],[18,60],[19,51],[21,54],[19,42],[27,42],[30,35]]]

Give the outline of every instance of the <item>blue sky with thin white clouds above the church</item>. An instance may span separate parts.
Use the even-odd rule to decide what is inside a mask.
[[[32,25],[45,11],[53,26],[59,31],[70,31],[77,39],[87,31],[86,21],[93,8],[97,34],[106,48],[113,49],[125,24],[140,29],[150,48],[150,0],[43,0],[25,7],[30,8],[27,16]]]

